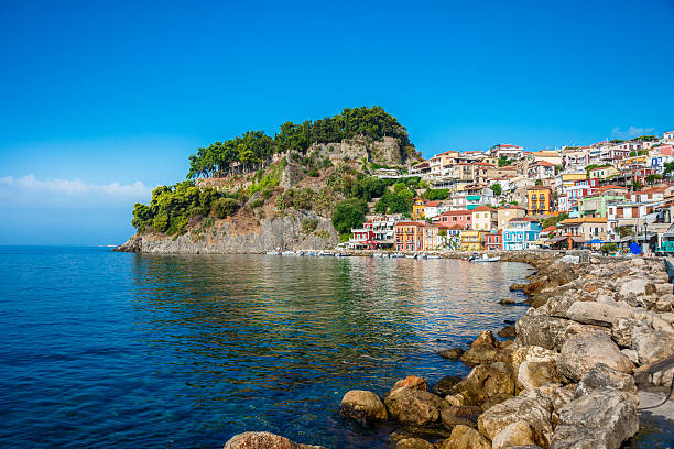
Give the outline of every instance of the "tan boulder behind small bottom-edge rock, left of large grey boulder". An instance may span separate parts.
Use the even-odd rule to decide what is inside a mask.
[[[551,398],[534,390],[485,412],[478,418],[478,429],[480,434],[493,440],[506,427],[525,420],[533,429],[535,443],[547,446],[553,432],[552,410]]]

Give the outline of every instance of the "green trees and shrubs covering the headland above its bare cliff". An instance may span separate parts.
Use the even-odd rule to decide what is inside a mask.
[[[381,179],[370,175],[379,166],[366,157],[330,160],[308,151],[344,139],[384,136],[396,139],[400,147],[416,156],[404,127],[380,107],[345,109],[339,116],[302,124],[286,122],[273,139],[250,131],[216,142],[189,156],[191,179],[155,188],[150,205],[135,204],[132,225],[140,234],[199,236],[239,213],[246,221],[259,221],[295,210],[331,217],[335,229],[345,234],[362,225],[374,200],[378,212],[409,213],[416,189],[426,187],[420,178]],[[279,156],[270,162],[274,154]],[[196,183],[195,177],[210,184]],[[246,187],[232,182],[241,178]],[[311,222],[303,223],[304,231],[311,228]]]

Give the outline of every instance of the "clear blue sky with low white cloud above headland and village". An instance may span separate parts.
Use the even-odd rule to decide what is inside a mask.
[[[674,129],[674,0],[0,1],[0,244],[98,245],[197,147],[382,106],[425,157]]]

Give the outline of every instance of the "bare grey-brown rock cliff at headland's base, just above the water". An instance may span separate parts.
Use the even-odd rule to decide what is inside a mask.
[[[238,221],[242,218],[240,217]],[[303,232],[302,222],[317,219],[312,232]],[[254,220],[254,219],[253,219]],[[237,220],[220,220],[208,229],[192,230],[177,238],[133,236],[116,251],[143,253],[263,253],[274,250],[323,250],[334,248],[338,234],[329,219],[314,212],[292,211],[284,217],[254,220],[243,227]]]

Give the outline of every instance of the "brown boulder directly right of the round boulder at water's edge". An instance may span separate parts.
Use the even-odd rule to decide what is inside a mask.
[[[447,406],[439,396],[407,387],[393,390],[384,398],[384,404],[391,419],[420,426],[437,423],[441,410]]]

